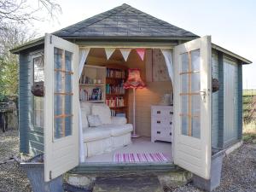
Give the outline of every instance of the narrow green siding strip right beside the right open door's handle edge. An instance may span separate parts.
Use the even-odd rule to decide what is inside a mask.
[[[212,49],[212,78],[218,79],[218,53]],[[212,93],[212,147],[218,148],[218,91]]]

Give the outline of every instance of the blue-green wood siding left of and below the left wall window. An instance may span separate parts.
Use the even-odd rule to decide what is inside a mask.
[[[32,55],[20,53],[19,75],[19,129],[20,129],[20,153],[41,154],[44,153],[44,132],[32,125]]]

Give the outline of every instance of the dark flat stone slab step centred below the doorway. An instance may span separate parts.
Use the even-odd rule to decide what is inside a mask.
[[[163,192],[157,176],[96,177],[93,192]]]

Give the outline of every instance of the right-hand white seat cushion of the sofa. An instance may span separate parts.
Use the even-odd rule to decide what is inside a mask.
[[[108,124],[108,125],[98,126],[97,128],[106,129],[110,131],[111,136],[121,136],[133,130],[133,127],[131,124],[125,124],[125,125]]]

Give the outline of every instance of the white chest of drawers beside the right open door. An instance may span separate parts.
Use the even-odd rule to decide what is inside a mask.
[[[151,106],[151,142],[172,142],[172,106]]]

